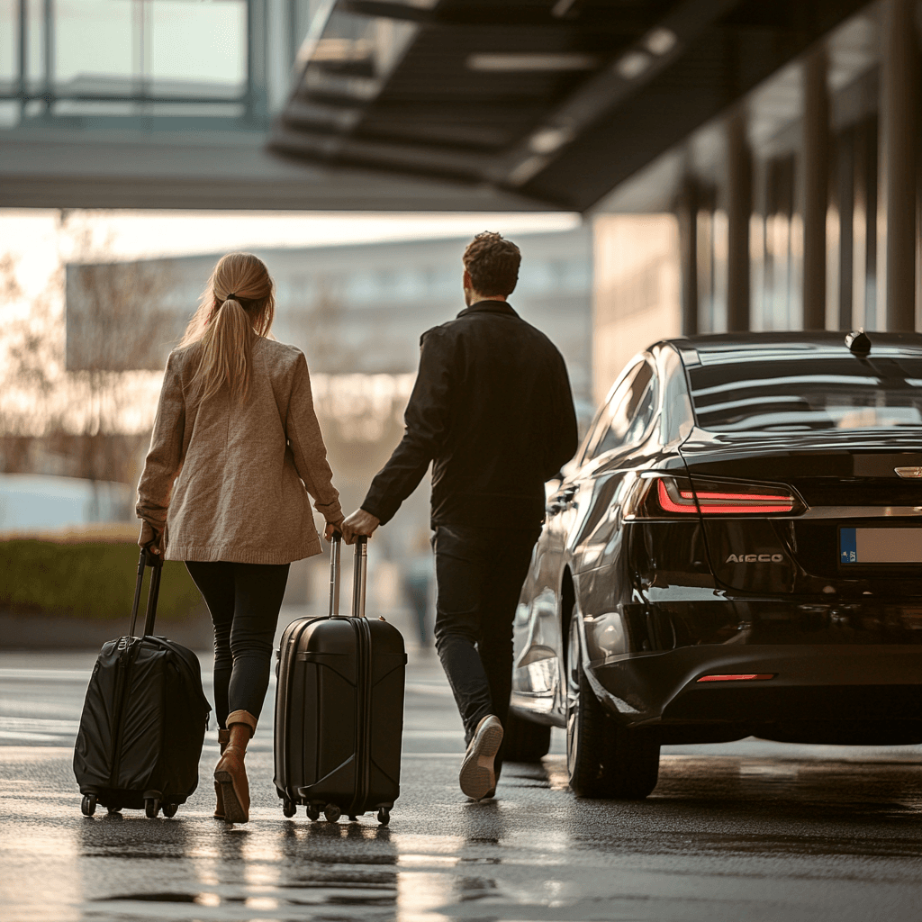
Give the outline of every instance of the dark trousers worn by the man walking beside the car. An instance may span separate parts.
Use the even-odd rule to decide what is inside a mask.
[[[438,526],[435,646],[470,742],[480,720],[509,713],[513,620],[540,528]],[[497,776],[502,749],[496,760]]]

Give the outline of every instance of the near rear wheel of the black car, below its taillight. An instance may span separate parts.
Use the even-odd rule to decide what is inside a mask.
[[[656,787],[659,741],[648,730],[619,727],[583,669],[573,624],[567,659],[567,768],[581,798],[643,800]]]

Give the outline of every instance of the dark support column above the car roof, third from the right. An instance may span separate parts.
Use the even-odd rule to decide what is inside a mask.
[[[752,160],[746,139],[746,115],[727,121],[727,331],[750,328],[750,219]]]

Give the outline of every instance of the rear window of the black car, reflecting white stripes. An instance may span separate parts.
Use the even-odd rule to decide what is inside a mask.
[[[698,425],[717,432],[922,428],[922,359],[791,356],[689,368]]]

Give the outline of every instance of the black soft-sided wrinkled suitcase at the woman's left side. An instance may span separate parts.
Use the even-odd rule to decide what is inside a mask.
[[[151,568],[144,636],[135,636],[145,564]],[[159,810],[171,817],[198,785],[208,723],[198,657],[154,637],[161,558],[141,551],[131,631],[103,644],[93,667],[74,751],[81,810]]]

